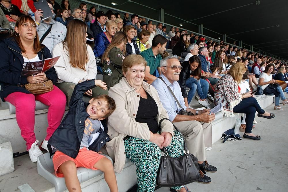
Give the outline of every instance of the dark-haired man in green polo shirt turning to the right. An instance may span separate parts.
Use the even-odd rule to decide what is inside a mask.
[[[150,49],[142,51],[140,55],[147,61],[145,69],[145,80],[151,84],[157,77],[153,73],[158,70],[161,74],[160,61],[162,60],[161,54],[166,50],[167,39],[162,35],[156,35],[152,40]]]

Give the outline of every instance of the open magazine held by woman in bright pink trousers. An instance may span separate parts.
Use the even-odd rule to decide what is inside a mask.
[[[44,59],[41,61],[24,62],[21,77],[37,75],[38,73],[45,73],[56,64],[59,58],[60,56]]]

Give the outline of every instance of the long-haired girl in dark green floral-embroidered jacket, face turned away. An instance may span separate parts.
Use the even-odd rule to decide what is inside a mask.
[[[102,56],[103,80],[108,88],[113,87],[122,79],[122,62],[126,54],[126,43],[125,33],[117,32]]]

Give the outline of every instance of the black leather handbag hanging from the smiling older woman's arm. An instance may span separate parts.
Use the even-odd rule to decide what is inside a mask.
[[[159,128],[163,120],[159,122]],[[173,124],[176,131],[180,132]],[[182,135],[182,134],[181,134]],[[183,136],[183,135],[182,135]],[[184,137],[183,137],[184,138]],[[198,159],[190,154],[184,138],[184,155],[173,158],[168,156],[165,147],[162,149],[163,156],[160,159],[160,164],[156,177],[156,184],[160,187],[177,187],[186,185],[200,179]]]

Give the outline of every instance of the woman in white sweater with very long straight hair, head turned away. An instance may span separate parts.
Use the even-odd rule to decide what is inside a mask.
[[[67,96],[70,102],[76,84],[97,75],[95,56],[92,48],[86,44],[87,25],[78,19],[72,20],[67,26],[67,35],[63,42],[58,43],[52,50],[52,55],[61,57],[56,63],[55,70],[58,76],[56,85]],[[90,98],[107,95],[107,90],[98,86],[85,92]]]

